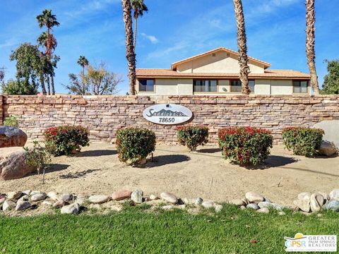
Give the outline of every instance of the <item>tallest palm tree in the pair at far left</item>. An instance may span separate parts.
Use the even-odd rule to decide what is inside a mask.
[[[46,26],[47,28],[47,32],[46,32],[46,54],[47,54],[47,58],[50,61],[51,56],[52,56],[52,43],[53,43],[53,35],[51,35],[51,30],[54,26],[59,26],[60,23],[57,21],[57,16],[55,16],[54,14],[52,14],[52,10],[47,10],[45,9],[44,11],[42,11],[42,14],[37,16],[37,23],[39,24],[40,28],[43,28],[44,26]],[[55,39],[55,38],[54,38]],[[54,47],[55,49],[55,47]],[[54,90],[54,77],[53,75],[51,75],[51,79],[52,79],[52,95],[55,94],[55,90]],[[47,75],[47,85],[49,86],[49,75]],[[50,94],[50,92],[49,92]]]

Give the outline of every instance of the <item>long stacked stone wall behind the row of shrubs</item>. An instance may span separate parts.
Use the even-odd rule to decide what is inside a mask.
[[[339,96],[2,96],[1,117],[16,115],[20,128],[30,138],[43,138],[45,128],[81,124],[92,140],[114,141],[118,128],[133,126],[155,131],[158,143],[175,143],[175,126],[161,126],[143,119],[152,104],[182,104],[193,112],[189,123],[210,128],[215,142],[218,129],[226,126],[256,126],[272,131],[275,143],[288,126],[312,127],[321,120],[339,119]]]

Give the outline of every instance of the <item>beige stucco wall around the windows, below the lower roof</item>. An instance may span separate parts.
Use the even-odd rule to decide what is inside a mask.
[[[292,80],[256,79],[256,95],[292,95]],[[230,92],[230,80],[218,80],[218,92],[196,92],[198,95],[227,95]],[[310,90],[310,89],[309,89]],[[138,81],[137,81],[138,91]],[[155,92],[138,92],[138,95],[193,95],[191,78],[157,78]],[[234,92],[232,92],[234,94]]]

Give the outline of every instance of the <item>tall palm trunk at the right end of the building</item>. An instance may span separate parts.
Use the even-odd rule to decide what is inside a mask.
[[[314,51],[314,23],[316,23],[316,13],[314,11],[314,1],[306,0],[306,56],[309,73],[311,74],[311,87],[315,95],[319,95],[318,76],[316,75],[316,52]]]

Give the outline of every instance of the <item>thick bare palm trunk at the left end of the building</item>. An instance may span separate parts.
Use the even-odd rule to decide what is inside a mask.
[[[126,59],[129,66],[129,93],[136,95],[136,54],[133,46],[133,28],[131,16],[131,1],[121,0],[124,13],[125,37],[126,37]]]

